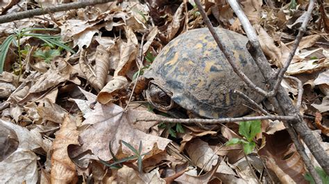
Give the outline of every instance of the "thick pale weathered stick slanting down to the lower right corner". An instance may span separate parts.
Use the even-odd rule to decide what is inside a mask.
[[[233,8],[233,11],[239,18],[240,22],[242,23],[242,26],[244,27],[244,30],[246,31],[248,35],[248,39],[251,41],[251,45],[253,46],[253,50],[255,50],[255,53],[251,53],[253,57],[255,58],[255,62],[258,64],[258,67],[260,68],[260,71],[264,75],[264,78],[267,80],[268,84],[271,86],[274,86],[276,84],[276,75],[274,75],[273,71],[271,70],[271,67],[269,66],[266,57],[264,56],[264,53],[262,53],[262,50],[260,48],[260,43],[258,42],[258,37],[255,34],[255,30],[251,26],[250,22],[246,18],[246,15],[244,15],[244,12],[239,7],[239,4],[237,1],[234,0],[228,0],[228,3],[230,3],[231,8]],[[296,108],[292,104],[292,100],[289,98],[289,96],[285,93],[285,90],[282,89],[280,86],[278,90],[278,94],[276,95],[276,98],[269,98],[271,102],[277,102],[277,104],[273,104],[273,107],[275,107],[276,111],[280,115],[292,115],[298,117],[297,122],[289,121],[285,122],[285,126],[287,127],[287,131],[289,132],[290,136],[295,136],[294,131],[292,131],[292,125],[294,124],[294,129],[298,132],[299,136],[303,138],[305,144],[307,147],[310,148],[310,151],[314,155],[314,157],[317,159],[321,167],[326,171],[326,173],[329,173],[329,163],[328,160],[328,154],[324,151],[323,147],[321,147],[319,141],[315,136],[312,134],[312,131],[307,127],[305,122],[303,121],[303,116],[301,116],[300,113],[296,111]],[[298,138],[292,138],[292,140],[298,140]],[[299,144],[298,142],[295,142],[296,147]],[[297,149],[298,150],[298,149]],[[300,152],[301,151],[301,152]],[[298,150],[300,152],[301,156],[305,156],[305,152],[303,150]],[[303,153],[302,153],[303,152]],[[324,153],[324,154],[323,154]],[[314,167],[312,164],[310,164],[309,158],[303,158],[305,165],[309,169],[312,176],[314,176],[315,181],[320,181],[318,174],[315,172]]]

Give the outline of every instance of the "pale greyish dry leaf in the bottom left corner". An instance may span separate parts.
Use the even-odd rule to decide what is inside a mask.
[[[0,134],[1,140],[4,141],[1,143],[12,146],[10,149],[1,149],[1,155],[6,154],[6,157],[3,157],[0,162],[0,181],[3,183],[37,183],[39,157],[32,150],[42,147],[44,151],[48,152],[51,145],[42,139],[39,132],[29,131],[25,127],[11,122],[0,120],[0,129],[1,132],[7,133],[6,135]]]

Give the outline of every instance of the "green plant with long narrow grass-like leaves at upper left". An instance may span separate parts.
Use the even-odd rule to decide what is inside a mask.
[[[22,49],[20,39],[23,37],[35,37],[37,39],[41,39],[44,43],[48,44],[49,46],[58,46],[60,48],[64,48],[65,50],[75,53],[74,50],[66,46],[62,42],[58,41],[60,35],[44,35],[40,33],[32,33],[33,31],[55,31],[57,29],[53,28],[23,28],[22,30],[17,30],[14,34],[9,35],[3,43],[0,45],[0,74],[3,72],[3,66],[6,60],[6,55],[8,53],[10,45],[13,43],[17,46],[17,53],[19,59],[19,76],[22,74]]]

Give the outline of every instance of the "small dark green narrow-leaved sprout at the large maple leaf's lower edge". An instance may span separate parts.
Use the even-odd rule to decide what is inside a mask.
[[[125,163],[129,160],[135,160],[137,159],[137,165],[138,165],[138,171],[142,172],[142,156],[149,154],[149,152],[142,154],[142,140],[140,141],[140,147],[137,149],[135,149],[132,145],[130,145],[128,142],[125,142],[124,140],[121,140],[121,142],[128,147],[131,151],[133,151],[134,155],[133,156],[128,156],[126,158],[122,158],[122,159],[117,159],[115,157],[115,154],[112,151],[112,147],[111,147],[111,142],[109,144],[110,147],[110,154],[113,158],[113,160],[115,161],[114,163],[107,163],[105,160],[101,160],[101,158],[99,158],[99,161],[101,161],[101,163],[103,163],[103,165],[106,165],[107,167],[110,167],[111,169],[120,169],[122,167],[121,163]]]

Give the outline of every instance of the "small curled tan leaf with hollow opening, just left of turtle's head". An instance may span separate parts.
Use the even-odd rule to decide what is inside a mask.
[[[114,102],[123,96],[126,92],[126,86],[128,86],[128,80],[123,76],[115,76],[97,95],[97,101],[101,104],[107,104],[108,102]]]

